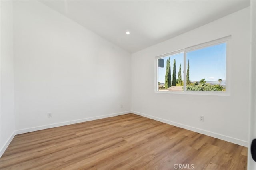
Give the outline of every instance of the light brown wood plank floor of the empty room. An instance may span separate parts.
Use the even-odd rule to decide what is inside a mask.
[[[243,146],[127,114],[16,135],[0,168],[243,170],[246,162]]]

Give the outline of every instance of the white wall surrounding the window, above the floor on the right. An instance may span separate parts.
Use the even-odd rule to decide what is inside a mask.
[[[132,54],[132,110],[147,117],[247,146],[250,9]],[[231,95],[154,93],[155,56],[231,35]],[[204,122],[199,121],[204,115]]]

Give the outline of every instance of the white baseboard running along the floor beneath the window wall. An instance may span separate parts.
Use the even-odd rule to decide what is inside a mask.
[[[231,142],[231,143],[234,143],[234,144],[239,144],[241,146],[248,147],[248,142],[244,141],[244,140],[240,140],[240,139],[233,138],[233,137],[230,137],[230,136],[218,134],[218,133],[215,133],[215,132],[210,132],[208,130],[203,130],[203,129],[200,129],[200,128],[191,127],[191,126],[184,125],[184,124],[181,124],[181,123],[176,123],[176,122],[173,122],[173,121],[169,121],[169,120],[162,119],[162,118],[159,118],[159,117],[154,117],[154,116],[147,115],[147,114],[140,113],[140,112],[136,112],[136,111],[131,111],[131,113],[134,113],[136,115],[140,115],[140,116],[143,116],[143,117],[147,117],[147,118],[150,118],[150,119],[154,119],[156,121],[160,121],[160,122],[163,122],[163,123],[167,123],[169,125],[174,125],[176,127],[184,128],[184,129],[187,129],[187,130],[192,130],[194,132],[198,132],[200,134],[205,134],[207,136],[211,136],[211,137],[214,137],[214,138],[225,140],[225,141],[228,141],[228,142]]]

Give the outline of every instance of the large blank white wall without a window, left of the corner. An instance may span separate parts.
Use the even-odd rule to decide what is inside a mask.
[[[14,2],[16,130],[130,111],[130,57],[40,2]]]

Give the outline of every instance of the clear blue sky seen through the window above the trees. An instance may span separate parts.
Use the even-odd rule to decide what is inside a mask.
[[[166,61],[170,57],[171,60],[171,74],[173,71],[173,61],[176,60],[176,78],[178,78],[179,66],[181,63],[181,70],[183,67],[183,53],[166,56],[164,59],[164,68],[158,67],[158,81],[164,83],[166,72]],[[188,64],[189,59],[189,74],[190,81],[218,81],[218,79],[226,80],[226,43],[190,51],[187,53]],[[182,72],[182,80],[183,72]]]

